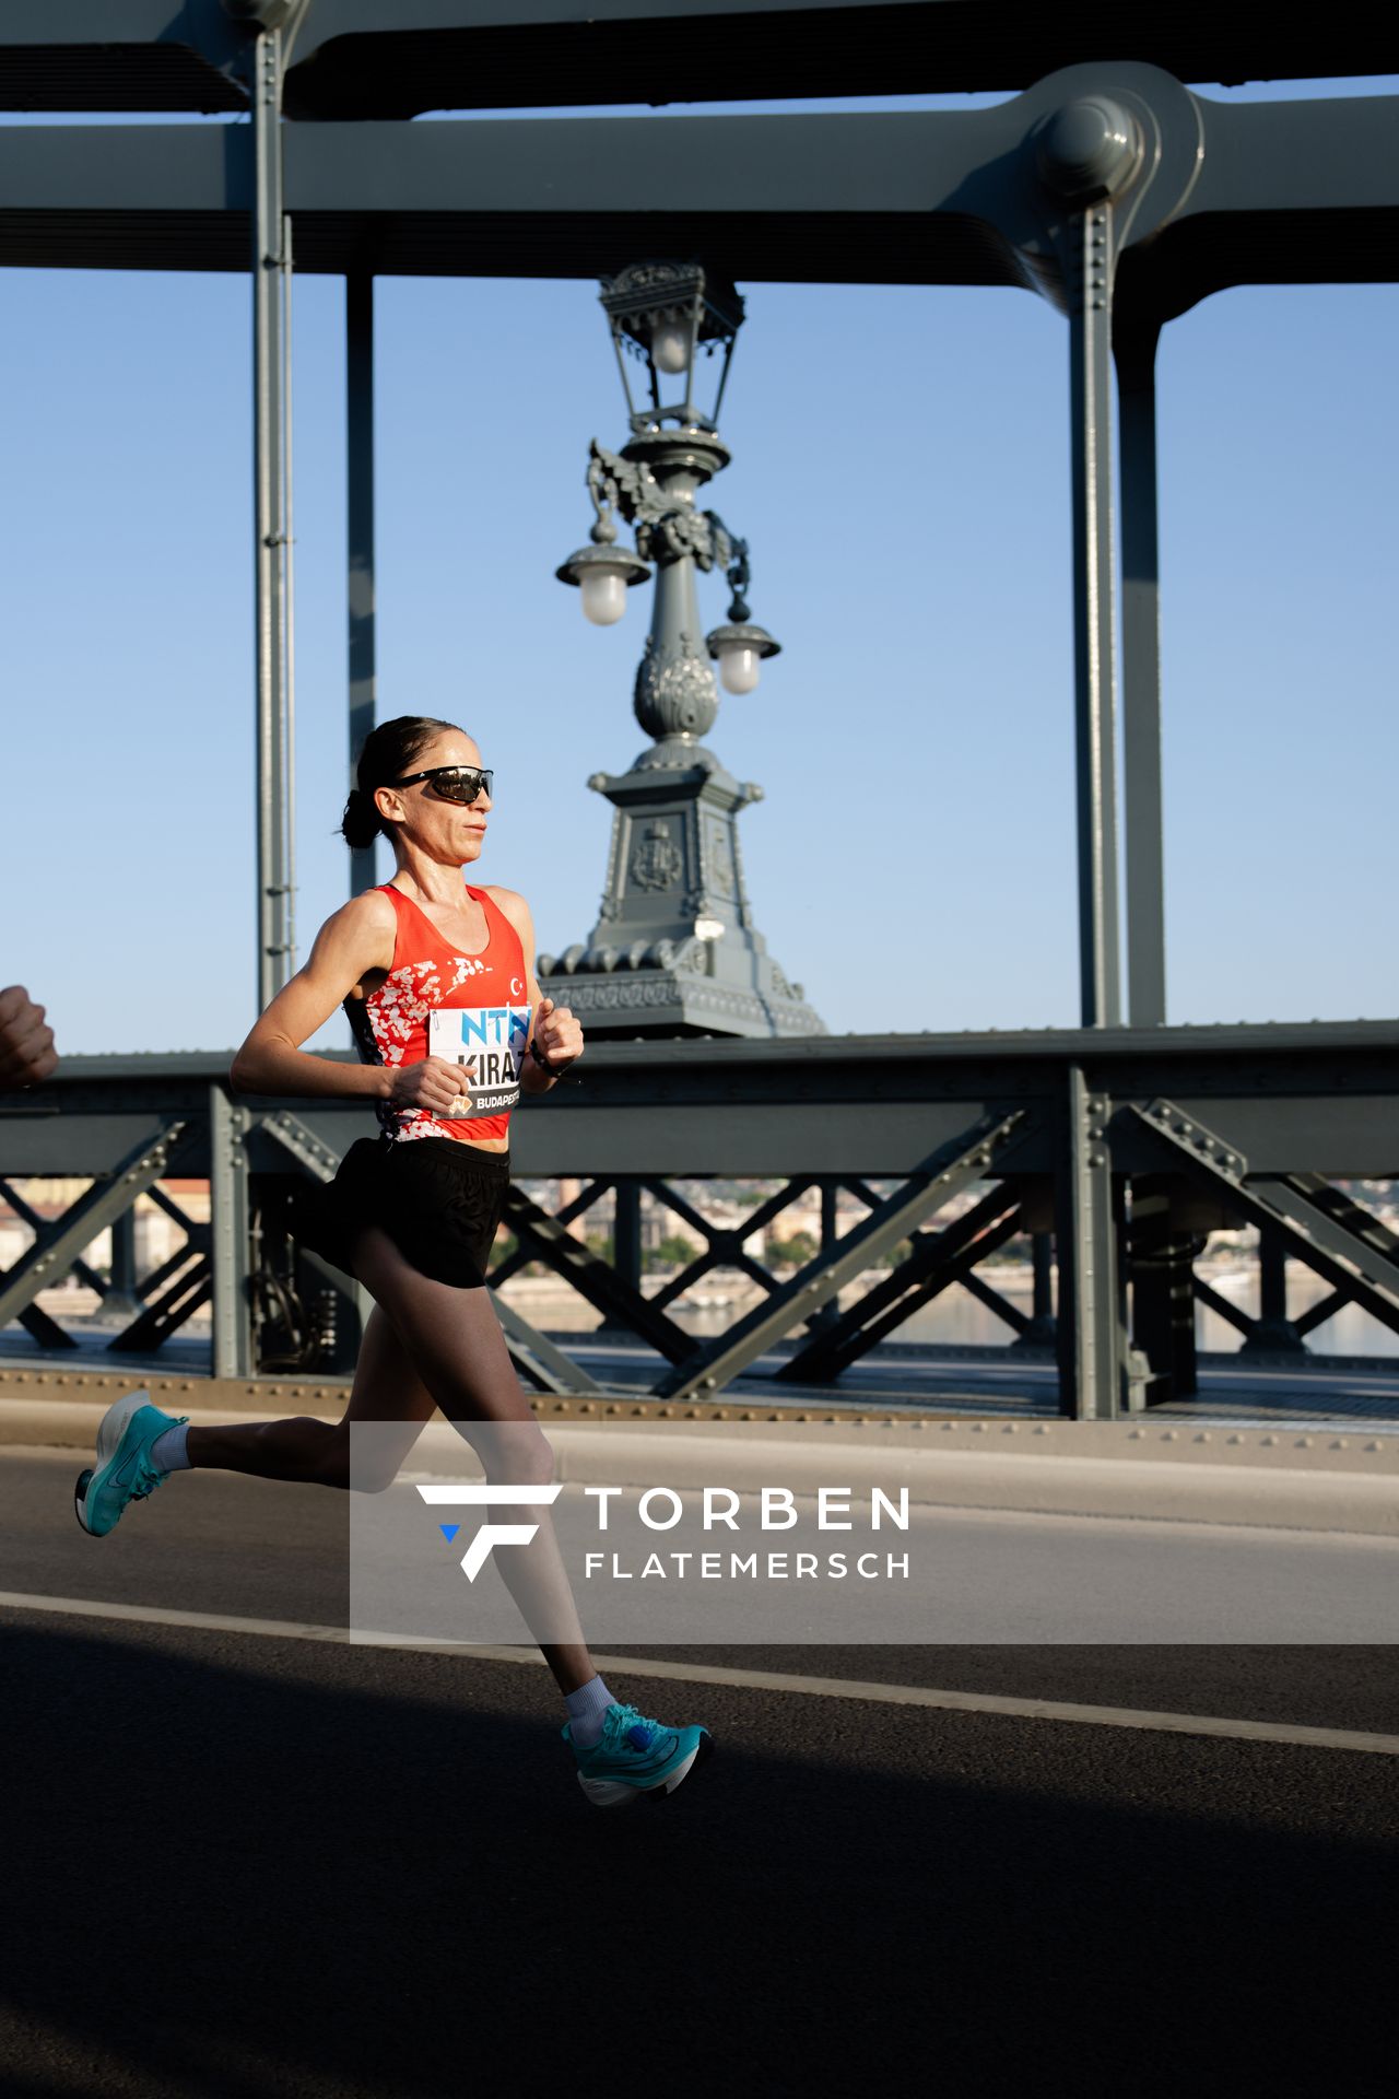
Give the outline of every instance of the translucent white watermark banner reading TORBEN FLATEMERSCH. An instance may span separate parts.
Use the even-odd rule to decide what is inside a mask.
[[[642,1450],[598,1429],[560,1465],[535,1423],[354,1425],[350,1629],[466,1646],[1393,1637],[1399,1541],[948,1507],[927,1465],[877,1438],[659,1434]]]

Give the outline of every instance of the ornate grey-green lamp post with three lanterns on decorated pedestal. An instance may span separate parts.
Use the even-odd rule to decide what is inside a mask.
[[[636,718],[652,739],[629,772],[594,772],[589,787],[615,808],[608,879],[587,942],[541,955],[550,997],[594,1035],[824,1035],[824,1024],[789,984],[753,924],[742,879],[736,817],[761,800],[703,745],[719,695],[711,663],[730,693],[751,693],[763,657],[778,653],[753,623],[749,548],[696,491],[730,462],[717,430],[742,300],[707,279],[698,264],[642,262],[604,279],[631,439],[621,453],[594,439],[587,493],[596,521],[589,544],[558,577],[575,584],[583,613],[612,626],[627,590],[652,567],[650,634],[636,674]],[[713,409],[696,407],[694,372],[722,353]],[[650,399],[638,407],[627,365],[646,372]],[[684,376],[684,399],[665,405],[663,386]],[[636,552],[619,546],[617,518],[636,527]],[[724,569],[732,602],[724,626],[701,640],[696,571]]]

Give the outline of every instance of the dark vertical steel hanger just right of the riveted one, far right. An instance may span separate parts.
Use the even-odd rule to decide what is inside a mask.
[[[1156,325],[1118,327],[1114,342],[1122,441],[1126,1003],[1128,1018],[1137,1029],[1162,1026],[1166,1020],[1156,342]]]

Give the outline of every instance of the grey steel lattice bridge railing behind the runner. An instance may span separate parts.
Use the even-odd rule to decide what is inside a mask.
[[[1198,1301],[1246,1348],[1303,1352],[1344,1303],[1399,1331],[1399,1236],[1355,1192],[1399,1175],[1397,1052],[1399,1022],[596,1045],[577,1087],[529,1102],[512,1125],[491,1282],[543,1264],[654,1352],[657,1396],[690,1402],[778,1343],[778,1381],[835,1383],[961,1282],[1003,1318],[1009,1348],[1053,1352],[1066,1415],[1114,1419],[1196,1390]],[[367,1299],[287,1236],[285,1196],[300,1175],[329,1180],[371,1129],[367,1110],[235,1096],[227,1073],[220,1054],[69,1058],[48,1085],[4,1100],[0,1196],[36,1238],[0,1274],[0,1331],[21,1320],[38,1350],[71,1348],[38,1299],[76,1272],[130,1308],[109,1341],[117,1356],[159,1348],[212,1306],[214,1375],[348,1366]],[[42,1175],[90,1186],[50,1215],[15,1186]],[[208,1222],[166,1186],[191,1178],[210,1184]],[[705,1215],[688,1188],[705,1178],[755,1184],[749,1213]],[[577,1192],[556,1209],[529,1192],[558,1180]],[[780,1272],[755,1241],[812,1190],[820,1243]],[[143,1194],[180,1245],[143,1276],[130,1259],[105,1276],[86,1253],[109,1228],[130,1249],[122,1232]],[[644,1196],[696,1247],[652,1291]],[[604,1199],[606,1257],[596,1234],[589,1247],[571,1230]],[[1196,1274],[1225,1224],[1258,1228],[1256,1316]],[[1036,1255],[1032,1312],[984,1266],[1019,1234]],[[1288,1261],[1326,1285],[1296,1320]],[[736,1268],[749,1301],[724,1333],[696,1337],[673,1308],[715,1268]],[[531,1383],[596,1390],[518,1297],[497,1289],[495,1301]],[[336,1318],[308,1310],[331,1303]]]

